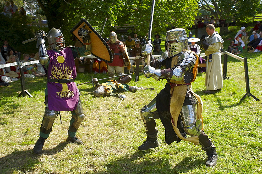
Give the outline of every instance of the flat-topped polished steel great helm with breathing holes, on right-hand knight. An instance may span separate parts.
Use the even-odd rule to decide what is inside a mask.
[[[184,28],[174,28],[166,32],[168,57],[175,56],[187,49],[187,33]]]

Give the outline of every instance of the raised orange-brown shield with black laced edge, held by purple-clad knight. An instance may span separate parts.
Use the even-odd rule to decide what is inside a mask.
[[[82,18],[81,21],[72,28],[70,33],[72,33],[73,36],[83,45],[83,39],[78,36],[78,31],[80,28],[84,28],[85,30],[92,32],[89,33],[91,38],[91,54],[98,59],[112,63],[113,55],[108,44],[84,18]]]

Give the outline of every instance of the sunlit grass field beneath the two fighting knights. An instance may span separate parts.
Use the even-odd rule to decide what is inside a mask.
[[[229,37],[224,36],[225,48]],[[260,53],[244,53],[248,57],[250,92],[262,98]],[[90,81],[90,76],[104,78],[104,74],[78,74],[76,83]],[[32,153],[38,138],[44,113],[45,78],[26,79],[26,89],[33,98],[20,97],[20,81],[0,88],[0,173],[262,173],[261,171],[261,101],[246,98],[244,63],[228,60],[224,88],[215,95],[204,95],[205,73],[199,73],[193,90],[204,101],[204,127],[212,138],[219,155],[214,168],[204,164],[206,155],[200,146],[189,142],[167,145],[160,120],[160,147],[140,152],[137,147],[145,139],[145,127],[140,109],[149,103],[165,85],[146,79],[133,80],[130,85],[152,86],[154,91],[125,92],[127,99],[116,109],[119,99],[93,98],[92,85],[80,85],[81,100],[86,118],[78,137],[82,145],[66,142],[69,112],[62,112],[62,125],[55,120],[53,131],[43,148],[43,154]]]

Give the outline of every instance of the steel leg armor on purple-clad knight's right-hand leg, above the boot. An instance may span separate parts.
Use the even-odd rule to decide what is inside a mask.
[[[75,119],[74,123],[70,126],[69,131],[76,132],[80,126],[80,123],[84,120],[85,114],[83,112],[81,100],[79,97],[77,109],[74,110],[75,115],[72,115],[72,118]]]

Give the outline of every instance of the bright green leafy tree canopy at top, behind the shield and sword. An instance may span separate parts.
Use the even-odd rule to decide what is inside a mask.
[[[81,18],[85,18],[99,33],[107,18],[104,36],[110,31],[116,31],[115,26],[124,24],[133,25],[134,31],[140,36],[148,33],[151,0],[92,0],[88,2],[84,0],[37,0],[37,2],[46,15],[49,29],[61,28],[67,40],[70,37],[70,29]],[[165,33],[167,28],[172,26],[190,27],[196,15],[196,8],[196,1],[156,1],[152,34]]]

